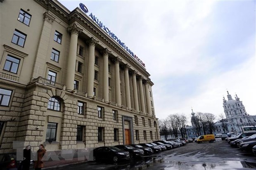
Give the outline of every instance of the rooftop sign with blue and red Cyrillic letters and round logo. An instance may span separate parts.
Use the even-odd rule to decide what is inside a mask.
[[[83,5],[82,3],[79,4],[81,9],[83,10],[83,12],[87,13],[88,9],[87,7],[85,7],[85,5]],[[92,13],[90,13],[89,17],[98,25],[100,26],[100,28],[102,28],[107,34],[109,34],[111,36],[111,38],[113,38],[117,43],[119,43],[119,45],[121,45],[121,47],[123,47],[124,50],[126,50],[135,60],[137,60],[142,66],[145,67],[145,64],[143,63],[142,60],[139,59],[139,57],[137,57],[132,50],[129,49],[129,47],[127,47],[125,45],[125,43],[123,43],[114,33],[112,33],[109,28],[107,28],[107,26],[103,25],[102,21],[100,21],[97,17],[95,17],[95,15],[93,15]]]

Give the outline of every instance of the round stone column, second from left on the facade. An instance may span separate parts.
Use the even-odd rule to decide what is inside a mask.
[[[93,37],[88,41],[89,43],[89,58],[87,69],[87,93],[88,97],[93,97],[93,83],[94,83],[94,61],[95,61],[95,46],[99,41]]]

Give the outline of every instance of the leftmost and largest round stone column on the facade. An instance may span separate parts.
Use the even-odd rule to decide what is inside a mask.
[[[68,28],[68,31],[71,33],[70,44],[69,44],[69,57],[68,57],[68,66],[66,73],[66,90],[74,89],[74,80],[75,80],[75,68],[76,68],[76,48],[77,48],[77,39],[78,34],[83,30],[78,28],[76,24]]]

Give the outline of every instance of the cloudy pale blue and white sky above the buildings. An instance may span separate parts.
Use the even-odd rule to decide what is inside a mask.
[[[156,117],[223,113],[227,90],[256,115],[255,0],[82,2],[146,65]]]

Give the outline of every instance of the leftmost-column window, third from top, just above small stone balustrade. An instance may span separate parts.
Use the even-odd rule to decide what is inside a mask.
[[[19,68],[19,62],[20,62],[20,59],[7,55],[3,70],[17,74],[18,68]]]

